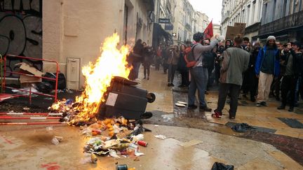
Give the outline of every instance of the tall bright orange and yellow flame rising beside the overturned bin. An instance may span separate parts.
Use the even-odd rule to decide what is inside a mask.
[[[130,73],[126,62],[128,47],[123,45],[117,49],[118,43],[117,34],[105,38],[102,48],[100,48],[101,56],[95,64],[90,62],[88,66],[83,66],[82,73],[86,78],[86,88],[81,96],[76,97],[76,103],[79,103],[76,110],[80,111],[77,120],[78,118],[84,121],[95,118],[100,103],[105,101],[104,94],[114,76],[128,78]]]

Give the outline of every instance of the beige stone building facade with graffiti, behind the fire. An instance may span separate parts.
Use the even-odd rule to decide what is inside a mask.
[[[84,84],[81,67],[97,59],[106,37],[119,34],[119,45],[133,45],[138,38],[152,44],[153,0],[5,1],[0,7],[1,55],[53,59],[67,79],[67,61],[74,59],[79,70],[73,72],[73,89]],[[9,38],[10,32],[15,38]],[[43,72],[56,70],[48,62],[36,67]]]

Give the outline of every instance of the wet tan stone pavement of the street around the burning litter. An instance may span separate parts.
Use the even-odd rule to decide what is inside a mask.
[[[176,87],[177,76],[172,88],[167,87],[167,75],[162,71],[152,67],[149,80],[142,79],[140,71],[140,87],[154,92],[156,101],[147,104],[147,111],[154,116],[144,120],[144,126],[152,132],[144,133],[149,145],[140,148],[146,155],[139,157],[139,161],[134,161],[134,157],[119,160],[100,157],[97,164],[81,164],[88,138],[80,134],[79,127],[60,125],[46,131],[45,126],[6,126],[0,128],[0,169],[115,169],[116,164],[128,164],[136,169],[210,169],[214,162],[233,164],[236,169],[303,169],[303,129],[292,128],[278,119],[303,122],[303,115],[299,114],[303,113],[302,108],[289,113],[276,110],[279,105],[276,101],[269,101],[268,107],[256,108],[252,102],[241,99],[236,120],[227,118],[228,104],[223,118],[217,120],[210,112],[187,111],[175,106],[177,101],[187,102],[187,90]],[[209,93],[208,106],[215,108],[217,92]],[[18,104],[14,100],[8,102]],[[246,122],[259,130],[236,133],[227,126],[234,122]],[[156,134],[168,139],[156,139]],[[55,135],[64,137],[58,146],[50,143]],[[201,143],[180,146],[191,140]]]

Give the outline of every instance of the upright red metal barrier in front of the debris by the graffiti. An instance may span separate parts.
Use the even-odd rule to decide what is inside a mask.
[[[36,61],[44,61],[44,62],[53,62],[56,64],[56,78],[48,78],[48,77],[42,77],[42,76],[34,76],[31,74],[27,74],[27,73],[20,73],[20,72],[15,72],[15,71],[7,71],[6,70],[6,57],[15,57],[15,58],[19,58],[19,59],[30,59],[30,60],[36,60]],[[44,94],[42,92],[32,92],[32,87],[29,88],[29,90],[22,90],[22,89],[18,89],[18,88],[14,88],[14,87],[7,87],[6,86],[6,73],[15,73],[18,75],[25,75],[25,76],[31,76],[31,77],[36,77],[36,78],[45,78],[48,80],[55,80],[55,94]],[[57,101],[57,94],[58,94],[58,73],[59,73],[59,64],[58,62],[56,62],[55,60],[50,60],[50,59],[36,59],[36,58],[32,58],[32,57],[23,57],[23,56],[17,56],[17,55],[6,55],[4,56],[4,78],[3,78],[3,84],[2,87],[8,88],[8,89],[12,89],[12,90],[20,90],[22,92],[29,92],[29,103],[32,103],[32,94],[39,94],[39,95],[43,95],[43,96],[47,96],[47,97],[53,97],[54,101]],[[23,95],[25,97],[27,97],[26,95]]]

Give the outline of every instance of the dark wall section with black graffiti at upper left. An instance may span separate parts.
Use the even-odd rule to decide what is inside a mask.
[[[0,44],[3,56],[42,58],[42,0],[0,0]],[[17,71],[19,62],[25,61],[8,57],[6,68]],[[26,62],[42,69],[42,62]]]

